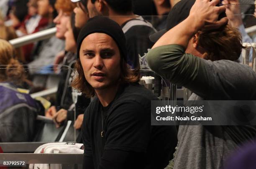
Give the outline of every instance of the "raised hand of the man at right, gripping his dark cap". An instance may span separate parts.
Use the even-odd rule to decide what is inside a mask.
[[[196,30],[212,30],[225,25],[228,22],[227,17],[218,20],[219,15],[225,12],[225,6],[216,6],[220,0],[196,0],[192,6],[189,17],[194,20]],[[197,32],[196,31],[196,32]]]

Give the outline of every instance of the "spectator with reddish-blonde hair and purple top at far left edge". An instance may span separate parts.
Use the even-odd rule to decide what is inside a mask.
[[[12,45],[1,39],[0,68],[0,142],[30,142],[41,107],[18,89],[26,80],[25,70],[14,58]]]

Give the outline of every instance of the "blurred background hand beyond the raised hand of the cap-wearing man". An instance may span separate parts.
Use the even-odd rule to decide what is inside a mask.
[[[238,5],[239,0],[223,0],[222,4],[226,7],[226,15],[228,17],[229,24],[233,27],[242,25],[241,10]]]

